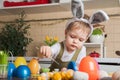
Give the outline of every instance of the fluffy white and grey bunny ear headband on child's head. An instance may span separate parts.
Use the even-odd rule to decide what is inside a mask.
[[[82,0],[72,0],[71,10],[72,10],[73,18],[68,21],[66,27],[68,27],[68,25],[72,22],[83,21],[85,23],[88,23],[91,28],[91,32],[89,36],[93,32],[93,24],[97,24],[97,23],[101,23],[103,21],[109,20],[108,15],[102,10],[98,10],[95,13],[93,13],[93,15],[90,17],[89,20],[84,19],[83,18],[84,17],[84,5],[83,5]]]

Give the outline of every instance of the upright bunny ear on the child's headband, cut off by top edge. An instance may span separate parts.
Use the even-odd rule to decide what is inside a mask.
[[[72,0],[72,14],[75,18],[83,18],[84,17],[84,5],[82,0]]]

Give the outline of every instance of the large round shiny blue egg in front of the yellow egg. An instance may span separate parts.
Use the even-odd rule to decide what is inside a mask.
[[[20,65],[15,70],[15,77],[17,78],[29,78],[30,74],[30,69],[26,65]]]

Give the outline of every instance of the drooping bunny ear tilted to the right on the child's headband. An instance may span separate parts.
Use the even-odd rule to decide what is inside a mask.
[[[97,24],[97,23],[107,21],[107,20],[109,20],[109,17],[102,10],[99,10],[99,11],[95,12],[89,19],[91,24]]]

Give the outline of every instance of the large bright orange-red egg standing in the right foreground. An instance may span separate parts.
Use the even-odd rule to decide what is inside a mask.
[[[81,60],[79,71],[88,73],[89,80],[99,80],[98,63],[90,56],[86,56]]]

